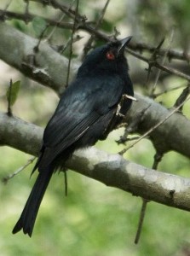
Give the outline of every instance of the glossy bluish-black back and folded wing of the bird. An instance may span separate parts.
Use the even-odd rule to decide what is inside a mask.
[[[93,81],[89,81],[90,87],[88,81],[76,81],[78,84],[72,84],[61,97],[43,135],[43,146],[50,149],[49,162],[78,141],[91,125],[119,101],[123,86],[118,86],[118,81],[114,79],[114,86],[112,81]]]

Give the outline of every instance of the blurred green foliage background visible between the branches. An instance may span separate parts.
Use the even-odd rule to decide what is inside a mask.
[[[63,1],[69,4],[71,1]],[[0,3],[3,8],[7,0]],[[20,4],[22,3],[22,4]],[[94,20],[100,15],[102,1],[80,1],[80,11]],[[10,10],[24,11],[22,1],[12,1]],[[29,9],[37,15],[60,17],[60,13],[30,2]],[[146,38],[150,44],[157,44],[158,39],[167,35],[176,26],[175,40],[171,47],[188,45],[189,1],[111,1],[101,29],[113,32],[114,26],[121,32],[132,33],[136,38]],[[67,18],[65,18],[67,20]],[[59,19],[58,19],[59,20]],[[26,25],[20,20],[9,23],[34,37],[42,32],[44,20],[36,19]],[[184,29],[183,29],[184,28]],[[49,28],[48,32],[51,32]],[[178,33],[180,32],[180,33]],[[84,36],[84,32],[80,32]],[[56,29],[52,44],[66,44],[71,32]],[[81,54],[82,40],[75,45],[74,53]],[[78,44],[80,46],[78,46]],[[97,43],[96,43],[97,44]],[[100,42],[98,42],[100,44]],[[65,55],[65,53],[63,53]],[[6,74],[8,83],[3,84],[4,90],[1,111],[6,111],[6,90],[10,74]],[[14,114],[22,119],[45,125],[58,102],[55,93],[43,88],[17,74],[21,80],[21,90],[14,104]],[[181,79],[169,77],[158,83],[157,92],[184,84]],[[135,90],[139,90],[135,84]],[[159,96],[157,101],[171,108],[180,95],[181,90],[170,91]],[[143,91],[141,89],[141,91]],[[49,103],[50,102],[50,103]],[[190,117],[190,105],[185,107],[185,114]],[[110,153],[117,153],[124,146],[118,146],[115,140],[122,134],[122,129],[114,131],[106,142],[99,142],[96,147]],[[153,165],[155,154],[152,143],[147,139],[138,143],[124,155],[129,160],[143,166]],[[1,178],[23,166],[29,155],[13,148],[0,148]],[[189,177],[189,160],[170,152],[159,165],[159,170]],[[11,230],[24,207],[37,173],[31,179],[32,166],[20,175],[9,180],[5,185],[0,183],[0,255],[31,256],[31,255],[71,255],[71,256],[123,256],[123,255],[189,255],[190,253],[190,215],[189,212],[164,207],[154,202],[147,206],[147,215],[143,226],[141,241],[135,246],[141,198],[137,198],[118,189],[107,188],[88,177],[75,172],[68,172],[69,193],[64,195],[64,176],[55,174],[40,208],[32,238],[21,232],[12,235]]]

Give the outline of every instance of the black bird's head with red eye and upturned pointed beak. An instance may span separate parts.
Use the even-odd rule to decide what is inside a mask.
[[[130,43],[131,38],[113,41],[92,50],[78,69],[78,76],[92,73],[114,73],[123,69],[127,71],[128,64],[124,57],[124,48]]]

